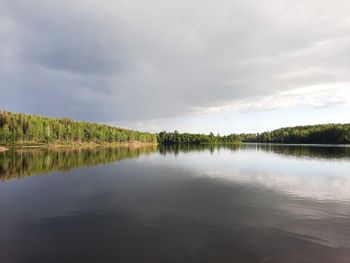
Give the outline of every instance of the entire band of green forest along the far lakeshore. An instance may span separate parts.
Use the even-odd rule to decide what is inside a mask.
[[[350,124],[322,124],[281,128],[264,133],[192,134],[149,133],[105,124],[0,111],[0,145],[45,146],[86,144],[220,144],[239,142],[349,144]]]

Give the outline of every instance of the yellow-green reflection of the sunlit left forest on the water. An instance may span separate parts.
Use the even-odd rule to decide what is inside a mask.
[[[73,168],[95,166],[156,151],[156,146],[98,147],[79,149],[36,149],[6,151],[0,154],[0,179],[22,178]]]

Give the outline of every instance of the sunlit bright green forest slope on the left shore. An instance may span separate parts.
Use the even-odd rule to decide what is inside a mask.
[[[152,133],[111,127],[104,124],[49,118],[0,111],[0,144],[23,142],[156,142]]]

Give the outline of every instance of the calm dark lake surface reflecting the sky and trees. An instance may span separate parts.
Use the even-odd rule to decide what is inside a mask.
[[[350,262],[350,148],[0,154],[0,262]]]

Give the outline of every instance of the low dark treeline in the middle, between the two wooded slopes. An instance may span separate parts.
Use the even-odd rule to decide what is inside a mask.
[[[214,135],[212,132],[207,134],[160,132],[158,134],[158,143],[160,144],[218,144],[218,143],[236,143],[241,141],[240,135],[231,134],[220,136]]]

